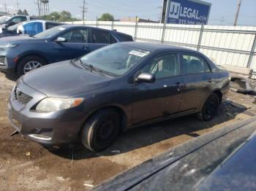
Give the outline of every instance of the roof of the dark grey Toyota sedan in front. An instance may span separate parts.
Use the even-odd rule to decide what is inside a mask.
[[[195,52],[200,53],[195,50],[191,50],[185,47],[176,47],[172,44],[160,44],[160,43],[153,43],[153,42],[120,42],[121,44],[128,44],[132,47],[137,47],[140,49],[149,50],[151,52],[154,51],[185,51],[185,52]]]

